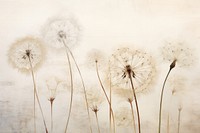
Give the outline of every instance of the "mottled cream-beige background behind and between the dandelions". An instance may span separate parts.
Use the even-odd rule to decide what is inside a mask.
[[[17,72],[8,64],[9,46],[16,39],[27,35],[40,36],[41,27],[48,18],[73,14],[82,29],[81,40],[73,52],[80,66],[83,67],[85,77],[90,70],[84,69],[84,61],[87,52],[93,48],[109,55],[113,49],[129,45],[142,48],[155,57],[158,71],[156,83],[152,91],[149,90],[147,94],[139,97],[142,130],[144,133],[155,133],[160,88],[164,80],[163,75],[169,67],[169,64],[164,63],[160,57],[160,48],[165,41],[181,40],[194,48],[194,55],[200,57],[199,7],[199,0],[0,0],[0,132],[27,132],[32,130],[33,123],[30,116],[32,90],[29,89],[32,87],[32,81],[28,75]],[[63,58],[62,55],[58,56],[51,55],[55,60]],[[177,68],[173,72],[187,78],[187,89],[181,97],[183,105],[181,133],[197,133],[200,130],[198,61],[199,59],[193,68],[184,70]],[[43,67],[38,72],[38,79],[45,73],[48,71]],[[86,82],[89,84],[90,78],[86,78]],[[77,101],[79,98],[77,97]],[[45,97],[42,98],[42,104],[49,121],[49,103]],[[63,131],[62,124],[65,124],[65,120],[61,118],[65,114],[65,104],[67,105],[68,102],[64,95],[58,97],[55,102],[55,132]],[[174,123],[177,120],[175,105],[172,106]],[[79,105],[76,106],[75,103],[73,109],[77,110],[78,107]],[[107,106],[103,106],[100,110],[102,132],[108,128],[104,126],[107,123],[106,109]],[[74,112],[75,117],[72,118],[69,132],[87,132],[83,124],[85,117]],[[38,111],[38,130],[43,130],[40,122]],[[176,125],[172,125],[172,129],[176,132]],[[96,131],[95,123],[94,131]],[[125,131],[131,132],[131,129],[118,128],[118,132]]]

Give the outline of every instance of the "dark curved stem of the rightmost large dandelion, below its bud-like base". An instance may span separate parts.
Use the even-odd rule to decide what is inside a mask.
[[[168,73],[167,73],[167,75],[166,75],[166,77],[165,77],[165,80],[164,80],[164,83],[163,83],[163,86],[162,86],[161,95],[160,95],[160,109],[159,109],[159,125],[158,125],[158,133],[161,132],[162,103],[163,103],[163,95],[164,95],[165,83],[166,83],[166,81],[167,81],[167,79],[168,79],[168,76],[169,76],[171,70],[172,70],[172,69],[171,69],[171,67],[170,67],[170,69],[169,69],[169,71],[168,71]]]

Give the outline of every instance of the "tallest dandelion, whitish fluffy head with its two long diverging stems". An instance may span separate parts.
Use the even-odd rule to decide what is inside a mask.
[[[71,48],[77,44],[79,37],[80,37],[80,27],[77,21],[72,17],[52,19],[44,28],[44,39],[53,47],[64,48],[66,50],[67,60],[69,63],[70,77],[71,77],[71,100],[70,100],[70,108],[69,108],[69,114],[68,114],[67,123],[65,127],[65,132],[67,132],[67,128],[69,125],[71,109],[72,109],[72,101],[73,101],[73,77],[72,77],[72,68],[71,68],[71,61],[70,61],[70,56],[71,56],[78,70],[79,76],[81,78],[81,82],[82,82],[82,86],[84,90],[85,103],[87,107],[88,120],[90,124],[90,132],[92,133],[85,83],[83,81],[80,68],[71,51]]]

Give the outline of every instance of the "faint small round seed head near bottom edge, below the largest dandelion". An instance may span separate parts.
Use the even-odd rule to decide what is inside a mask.
[[[116,125],[121,127],[132,126],[132,114],[129,108],[120,108],[115,113]]]

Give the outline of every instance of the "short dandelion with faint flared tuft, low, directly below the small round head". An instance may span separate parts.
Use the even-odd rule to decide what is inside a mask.
[[[90,89],[86,91],[87,97],[88,97],[88,104],[92,111],[95,113],[96,122],[98,126],[98,132],[100,133],[100,127],[99,127],[99,120],[98,120],[98,111],[99,106],[103,102],[103,96],[101,93],[99,93],[98,89]]]

